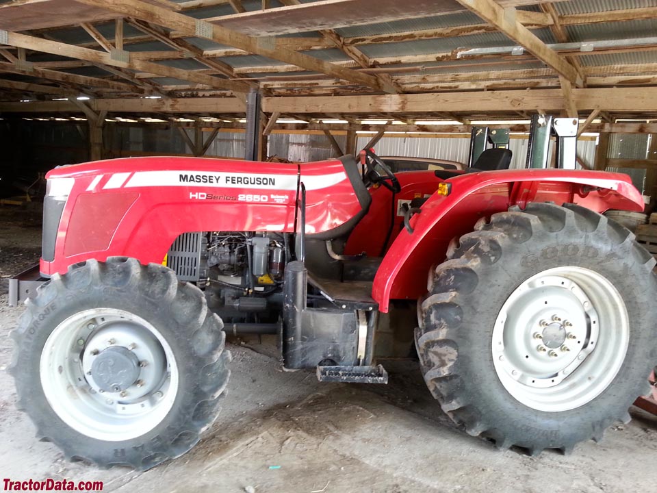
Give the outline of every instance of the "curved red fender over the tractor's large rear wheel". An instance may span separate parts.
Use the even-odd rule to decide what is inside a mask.
[[[644,203],[628,175],[584,170],[500,170],[467,173],[447,180],[447,197],[433,194],[411,218],[413,233],[397,236],[376,273],[372,297],[382,312],[391,299],[426,293],[428,269],[445,260],[452,238],[472,231],[480,218],[521,209],[530,202],[576,203],[596,212],[642,212]]]

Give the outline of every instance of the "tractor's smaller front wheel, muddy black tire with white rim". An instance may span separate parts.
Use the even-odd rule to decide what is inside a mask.
[[[201,290],[125,257],[54,275],[12,337],[18,407],[38,438],[103,468],[146,470],[189,451],[230,373]]]

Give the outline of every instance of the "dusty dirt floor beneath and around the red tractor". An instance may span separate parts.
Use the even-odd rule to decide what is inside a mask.
[[[190,453],[148,472],[66,462],[16,411],[7,337],[23,307],[6,277],[38,259],[40,230],[0,208],[1,479],[104,482],[105,492],[648,492],[657,484],[657,418],[629,425],[567,457],[528,457],[454,429],[412,362],[387,364],[389,385],[318,383],[283,372],[272,340],[237,341],[220,418]]]

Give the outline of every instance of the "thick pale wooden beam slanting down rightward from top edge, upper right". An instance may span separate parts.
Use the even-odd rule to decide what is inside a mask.
[[[583,81],[574,66],[566,62],[555,51],[517,20],[514,8],[502,8],[494,0],[456,0],[468,10],[471,10],[482,19],[497,27],[502,34],[508,36],[521,47],[532,53],[541,62],[554,68],[565,79],[577,86],[582,86]]]

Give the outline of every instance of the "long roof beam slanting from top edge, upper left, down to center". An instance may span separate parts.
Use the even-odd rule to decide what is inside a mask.
[[[188,34],[188,36],[198,36],[209,39],[222,45],[244,49],[250,53],[256,53],[258,55],[272,58],[272,60],[294,64],[310,71],[318,71],[325,73],[326,75],[331,75],[332,77],[338,77],[357,84],[362,84],[363,86],[384,90],[385,92],[395,92],[394,88],[382,87],[380,81],[372,75],[352,71],[348,68],[324,62],[323,60],[313,58],[303,53],[289,51],[288,49],[279,47],[275,39],[246,36],[240,32],[227,29],[223,25],[204,23],[203,21],[198,21],[197,19],[185,16],[184,14],[170,12],[169,10],[158,7],[157,5],[144,3],[140,0],[113,0],[112,2],[106,2],[105,0],[78,1],[88,5],[95,5],[107,10],[112,10],[112,12],[118,14],[139,18],[142,21],[161,25],[168,29],[177,29],[183,34]],[[275,9],[270,9],[268,12],[271,12],[272,10]],[[149,71],[148,69],[145,71],[157,73],[156,71]],[[233,82],[233,84],[237,84],[237,82]],[[242,82],[240,82],[240,85],[248,87],[248,85]]]

